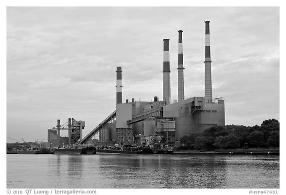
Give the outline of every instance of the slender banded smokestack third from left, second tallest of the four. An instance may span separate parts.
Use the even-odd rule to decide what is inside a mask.
[[[184,92],[184,67],[183,67],[183,38],[182,30],[179,32],[179,46],[178,46],[178,102],[185,99]]]

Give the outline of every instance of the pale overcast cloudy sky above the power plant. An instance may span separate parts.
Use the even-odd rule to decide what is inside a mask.
[[[124,101],[162,100],[164,38],[177,99],[178,30],[185,97],[203,97],[204,20],[225,124],[280,121],[279,7],[7,7],[7,136],[47,139],[68,118],[85,121],[86,135],[115,110],[116,66]]]

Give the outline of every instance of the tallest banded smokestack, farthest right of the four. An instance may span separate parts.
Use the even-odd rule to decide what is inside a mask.
[[[205,99],[206,102],[213,101],[212,94],[212,68],[211,68],[211,45],[210,45],[210,21],[206,23],[206,50],[205,50]]]

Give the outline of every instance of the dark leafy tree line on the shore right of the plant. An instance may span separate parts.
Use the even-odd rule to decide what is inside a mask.
[[[183,146],[196,150],[236,149],[249,147],[279,147],[279,121],[269,119],[261,126],[214,126],[201,133],[191,133],[180,139]]]

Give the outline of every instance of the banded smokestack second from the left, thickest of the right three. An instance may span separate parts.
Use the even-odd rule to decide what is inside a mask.
[[[170,80],[170,39],[163,39],[163,102],[165,105],[170,104],[171,99],[171,80]]]

